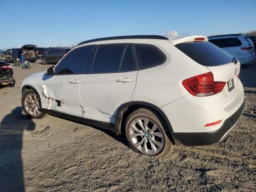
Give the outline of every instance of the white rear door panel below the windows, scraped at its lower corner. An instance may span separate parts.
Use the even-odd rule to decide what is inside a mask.
[[[138,71],[106,74],[86,74],[81,80],[80,96],[84,117],[115,123],[118,107],[132,100]],[[129,78],[129,82],[117,82]]]

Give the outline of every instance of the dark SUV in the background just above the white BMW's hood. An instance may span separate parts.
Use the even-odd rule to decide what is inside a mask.
[[[52,48],[46,54],[42,55],[42,64],[56,64],[69,51],[69,48]]]

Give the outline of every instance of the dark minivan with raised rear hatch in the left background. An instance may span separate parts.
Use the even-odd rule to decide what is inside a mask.
[[[8,49],[5,53],[6,62],[13,63],[14,58],[20,58],[21,54],[24,56],[24,60],[29,62],[35,62],[37,60],[34,48],[36,45],[24,45],[21,48]]]

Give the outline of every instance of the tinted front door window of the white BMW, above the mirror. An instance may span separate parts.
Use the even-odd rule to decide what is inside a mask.
[[[67,54],[61,61],[58,74],[85,74],[93,46],[78,48]]]

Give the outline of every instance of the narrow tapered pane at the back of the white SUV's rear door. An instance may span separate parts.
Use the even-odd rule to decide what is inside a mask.
[[[136,66],[134,55],[132,52],[132,46],[127,45],[124,52],[124,57],[120,66],[120,72],[132,71],[132,70],[137,70],[137,66]]]

